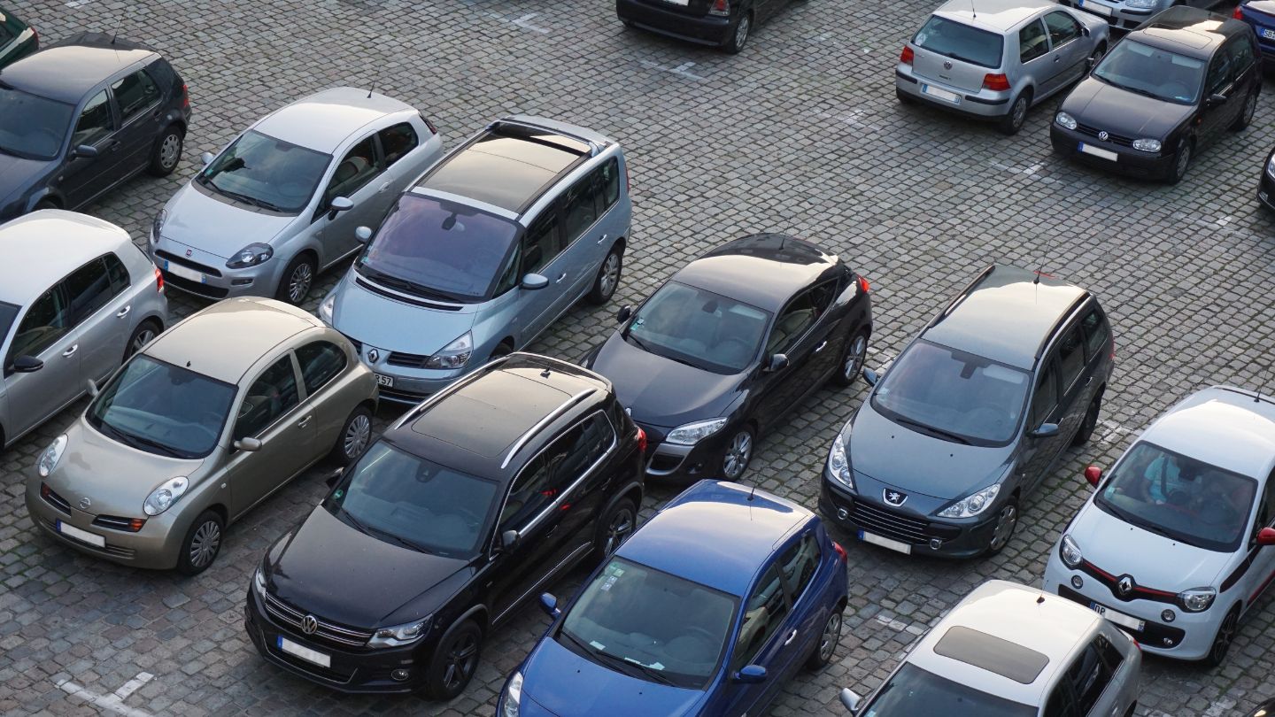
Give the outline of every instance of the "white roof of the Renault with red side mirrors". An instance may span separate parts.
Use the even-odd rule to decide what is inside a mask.
[[[1206,388],[1156,418],[1139,440],[1261,481],[1275,467],[1275,401],[1242,388]]]

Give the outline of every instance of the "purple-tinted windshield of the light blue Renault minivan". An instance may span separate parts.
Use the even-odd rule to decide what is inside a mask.
[[[354,269],[425,299],[482,300],[501,274],[516,235],[518,225],[495,214],[404,194]]]

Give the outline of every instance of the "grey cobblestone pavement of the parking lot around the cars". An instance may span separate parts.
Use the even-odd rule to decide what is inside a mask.
[[[617,138],[632,166],[623,283],[611,306],[572,310],[532,347],[548,355],[583,356],[612,329],[617,306],[714,244],[762,230],[835,249],[870,277],[876,365],[989,262],[1040,265],[1093,288],[1118,347],[1096,439],[1067,454],[997,558],[908,559],[839,536],[850,554],[848,629],[833,665],[784,688],[776,716],[843,713],[841,686],[877,686],[973,587],[993,577],[1035,583],[1082,501],[1084,466],[1112,464],[1132,431],[1191,390],[1257,385],[1271,361],[1275,221],[1253,196],[1275,143],[1271,83],[1257,121],[1167,188],[1053,157],[1056,101],[1033,111],[1015,138],[899,106],[891,68],[932,0],[794,3],[738,56],[626,31],[608,0],[5,4],[45,38],[88,28],[149,42],[186,78],[195,117],[181,171],[134,180],[89,208],[139,242],[199,152],[335,84],[375,85],[414,103],[449,144],[510,112]],[[310,309],[340,270],[323,277]],[[205,305],[170,296],[177,315]],[[813,508],[829,441],[864,394],[861,383],[811,398],[761,443],[747,480]],[[544,629],[538,610],[523,609],[493,635],[469,690],[448,704],[343,697],[286,675],[252,649],[242,603],[265,547],[320,499],[319,471],[233,526],[215,565],[196,578],[116,566],[37,535],[22,501],[34,457],[83,407],[0,455],[3,713],[488,716]],[[394,415],[382,410],[379,426]],[[652,486],[645,512],[677,490]],[[555,589],[570,593],[581,575]],[[1139,714],[1218,717],[1275,697],[1272,623],[1275,600],[1266,597],[1221,669],[1148,658]]]

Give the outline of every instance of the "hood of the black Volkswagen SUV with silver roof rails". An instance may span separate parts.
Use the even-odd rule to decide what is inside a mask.
[[[300,610],[380,628],[432,612],[437,603],[426,593],[467,566],[465,560],[375,538],[317,505],[270,559],[268,580],[273,595]],[[399,609],[411,614],[399,619]]]

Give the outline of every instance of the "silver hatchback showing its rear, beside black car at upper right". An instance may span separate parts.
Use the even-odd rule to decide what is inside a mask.
[[[949,0],[903,46],[894,91],[1015,134],[1033,105],[1102,59],[1107,32],[1102,18],[1047,0]]]

